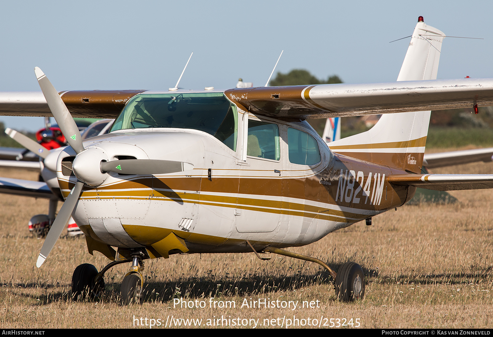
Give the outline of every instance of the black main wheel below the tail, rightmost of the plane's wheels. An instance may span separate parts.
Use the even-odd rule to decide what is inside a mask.
[[[362,300],[365,294],[365,275],[354,262],[346,262],[337,271],[336,296],[343,302]]]

